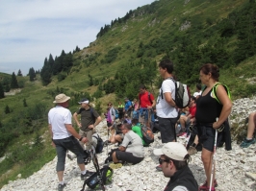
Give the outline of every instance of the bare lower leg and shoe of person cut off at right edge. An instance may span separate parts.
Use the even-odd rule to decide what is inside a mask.
[[[251,144],[256,142],[255,138],[253,137],[253,132],[256,129],[256,112],[251,112],[249,114],[248,119],[248,129],[247,129],[247,136],[244,138],[243,142],[241,143],[242,148],[247,148]]]

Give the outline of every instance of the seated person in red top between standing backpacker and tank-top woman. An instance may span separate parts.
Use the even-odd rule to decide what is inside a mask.
[[[191,97],[191,102],[189,106],[189,112],[186,113],[186,115],[180,116],[180,125],[181,130],[184,131],[183,134],[179,134],[179,136],[187,136],[189,134],[188,128],[192,121],[194,120],[194,115],[196,111],[196,105],[195,105],[195,97]]]

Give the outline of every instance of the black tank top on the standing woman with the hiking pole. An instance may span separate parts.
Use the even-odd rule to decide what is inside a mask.
[[[214,123],[219,117],[222,105],[211,96],[213,88],[196,100],[195,119],[197,123]]]

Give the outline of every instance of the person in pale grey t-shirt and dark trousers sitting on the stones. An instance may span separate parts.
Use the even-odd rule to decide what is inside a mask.
[[[114,163],[110,164],[110,167],[113,169],[121,167],[124,162],[140,163],[144,158],[141,137],[132,131],[131,124],[123,124],[121,131],[124,134],[124,138],[118,150],[112,155]]]

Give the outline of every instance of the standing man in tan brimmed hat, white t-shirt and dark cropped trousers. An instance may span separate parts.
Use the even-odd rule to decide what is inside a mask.
[[[70,97],[63,93],[57,95],[53,102],[56,104],[56,107],[51,108],[48,112],[48,124],[52,138],[52,146],[56,148],[58,156],[56,170],[59,179],[59,191],[63,190],[66,185],[64,183],[64,163],[67,150],[77,155],[77,163],[81,169],[81,179],[90,177],[92,174],[90,171],[86,170],[84,150],[77,140],[79,139],[79,141],[86,143],[88,142],[88,138],[79,135],[72,127],[72,115],[70,110],[66,108],[68,107],[69,99]]]

